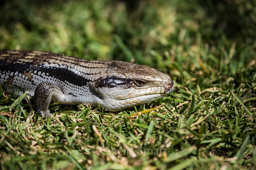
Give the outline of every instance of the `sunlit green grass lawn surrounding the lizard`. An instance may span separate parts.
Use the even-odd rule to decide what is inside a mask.
[[[174,80],[163,99],[116,114],[51,104],[41,118],[25,95],[0,92],[1,169],[256,168],[256,3],[132,2],[0,6],[1,49],[134,61]]]

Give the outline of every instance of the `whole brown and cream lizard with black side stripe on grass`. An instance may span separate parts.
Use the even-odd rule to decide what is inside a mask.
[[[99,103],[115,112],[173,90],[170,76],[148,66],[30,50],[0,50],[0,84],[4,93],[28,91],[44,116],[52,115],[48,110],[51,101],[93,107]]]

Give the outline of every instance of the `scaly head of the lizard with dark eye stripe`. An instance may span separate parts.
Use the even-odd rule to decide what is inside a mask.
[[[97,103],[108,111],[119,111],[148,103],[173,91],[172,78],[154,68],[120,61],[102,61],[99,78],[93,84],[100,96]]]

